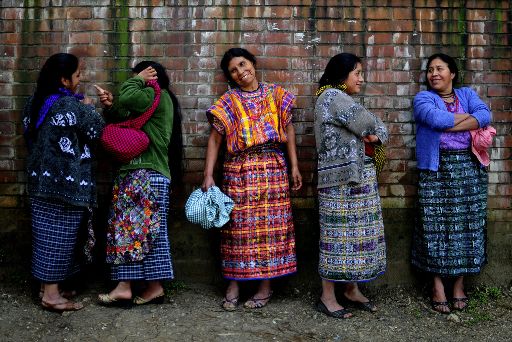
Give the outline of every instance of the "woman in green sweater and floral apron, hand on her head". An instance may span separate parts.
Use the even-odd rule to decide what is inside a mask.
[[[153,104],[155,91],[147,86],[148,81],[156,80],[162,89],[158,107],[142,127],[151,141],[148,149],[123,164],[114,183],[107,263],[112,264],[112,280],[119,283],[110,293],[98,296],[100,304],[107,306],[161,303],[162,281],[174,278],[167,211],[173,169],[169,162],[181,164],[181,153],[174,152],[181,151],[179,106],[169,90],[169,77],[162,65],[144,61],[133,72],[136,75],[122,84],[115,105],[112,94],[98,88],[100,100],[107,107],[106,117],[116,120],[140,115]],[[170,145],[173,154],[169,154]],[[135,298],[133,281],[146,284]]]

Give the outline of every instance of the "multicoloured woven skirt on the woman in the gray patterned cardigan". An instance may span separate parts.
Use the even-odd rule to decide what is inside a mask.
[[[386,270],[386,243],[375,167],[365,161],[361,183],[318,189],[320,277],[360,282]]]

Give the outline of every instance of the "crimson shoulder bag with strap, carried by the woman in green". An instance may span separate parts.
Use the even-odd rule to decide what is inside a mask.
[[[149,137],[141,130],[141,127],[149,120],[160,103],[160,86],[155,80],[146,83],[155,89],[155,100],[151,107],[140,116],[119,123],[111,123],[105,126],[101,134],[103,148],[122,163],[128,163],[139,156],[149,146]]]

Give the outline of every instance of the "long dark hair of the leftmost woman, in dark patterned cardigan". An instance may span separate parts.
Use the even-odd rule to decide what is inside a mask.
[[[59,93],[59,88],[63,88],[62,78],[71,80],[73,74],[78,70],[78,58],[69,53],[57,53],[50,56],[44,63],[37,78],[36,91],[32,97],[30,107],[30,124],[27,130],[27,136],[35,141],[37,132],[35,125],[39,117],[39,110],[45,99]]]

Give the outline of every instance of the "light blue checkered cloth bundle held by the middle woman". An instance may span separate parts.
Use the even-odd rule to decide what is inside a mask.
[[[216,186],[208,191],[194,190],[185,204],[187,219],[200,224],[204,229],[222,227],[229,221],[229,214],[235,203]]]

